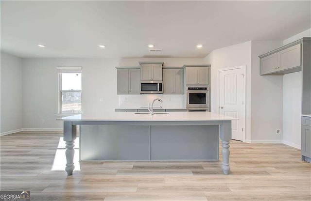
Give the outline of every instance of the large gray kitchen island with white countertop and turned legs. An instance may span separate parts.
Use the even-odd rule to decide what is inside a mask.
[[[228,174],[231,121],[211,112],[170,112],[154,115],[135,112],[79,114],[63,117],[66,172],[74,170],[74,140],[80,126],[80,160],[219,160]]]

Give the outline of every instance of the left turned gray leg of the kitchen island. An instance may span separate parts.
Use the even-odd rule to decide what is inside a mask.
[[[72,125],[72,121],[64,121],[64,141],[66,141],[66,172],[67,175],[72,175],[74,170],[73,156],[74,156],[74,140],[77,138],[77,126]]]

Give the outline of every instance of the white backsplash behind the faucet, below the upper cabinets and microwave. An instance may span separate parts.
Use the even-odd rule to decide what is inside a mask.
[[[118,95],[119,108],[140,108],[147,107],[155,98],[163,100],[162,103],[155,102],[154,107],[162,108],[186,108],[184,106],[184,95],[169,94],[141,94],[141,95]]]

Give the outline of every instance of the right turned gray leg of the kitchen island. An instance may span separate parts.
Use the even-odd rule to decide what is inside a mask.
[[[220,139],[222,140],[222,170],[224,174],[228,174],[230,170],[229,166],[229,141],[231,139],[231,121],[224,121],[222,125],[220,125]]]

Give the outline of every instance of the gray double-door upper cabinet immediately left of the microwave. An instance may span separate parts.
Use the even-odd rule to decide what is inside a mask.
[[[140,70],[118,69],[117,94],[140,94]]]

